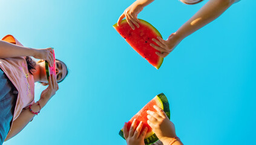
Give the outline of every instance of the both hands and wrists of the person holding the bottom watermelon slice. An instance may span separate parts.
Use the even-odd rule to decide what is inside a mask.
[[[177,137],[174,124],[169,120],[165,112],[154,105],[154,111],[146,111],[148,114],[148,125],[153,129],[154,133],[159,138],[159,141],[154,145],[183,145],[182,141]],[[123,136],[127,145],[145,145],[144,138],[146,136],[147,127],[142,130],[143,123],[139,123],[136,128],[137,120],[134,119],[131,128],[127,130],[127,123],[123,126]]]

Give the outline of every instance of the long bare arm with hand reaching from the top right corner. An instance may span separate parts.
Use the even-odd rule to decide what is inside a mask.
[[[209,0],[197,13],[192,16],[176,33],[172,33],[167,40],[163,40],[160,37],[153,39],[157,43],[156,46],[153,43],[150,45],[156,50],[162,53],[156,53],[160,57],[166,57],[172,50],[187,36],[204,27],[206,24],[214,21],[224,11],[226,11],[235,0]]]

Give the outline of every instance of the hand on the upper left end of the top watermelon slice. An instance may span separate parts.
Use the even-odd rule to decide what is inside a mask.
[[[122,19],[125,18],[133,30],[135,29],[134,25],[136,25],[136,27],[139,28],[140,25],[139,25],[139,19],[137,18],[137,15],[142,10],[143,10],[142,5],[139,5],[138,2],[135,1],[133,4],[130,5],[130,7],[126,8],[126,10],[119,17],[117,21],[117,26],[119,26]]]

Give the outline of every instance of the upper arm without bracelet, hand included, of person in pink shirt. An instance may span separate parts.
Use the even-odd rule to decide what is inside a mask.
[[[0,40],[0,59],[6,59],[10,57],[22,57],[33,56],[36,59],[44,59],[53,65],[53,54],[51,54],[52,48],[35,49],[28,47],[21,47],[13,43]]]

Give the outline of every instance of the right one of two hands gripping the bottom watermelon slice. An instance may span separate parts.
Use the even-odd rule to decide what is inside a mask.
[[[165,142],[170,138],[177,137],[174,124],[166,116],[165,112],[158,106],[154,105],[157,112],[146,111],[148,114],[148,124],[153,129],[159,140]]]

